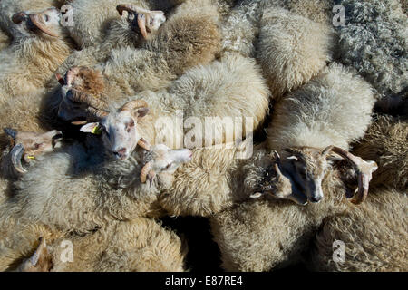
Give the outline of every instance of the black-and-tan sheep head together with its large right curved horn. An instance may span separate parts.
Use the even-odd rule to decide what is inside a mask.
[[[347,160],[358,175],[358,189],[352,202],[359,204],[367,196],[372,173],[377,169],[374,161],[365,161],[354,156],[347,150],[329,146],[325,150],[310,147],[285,149],[286,157],[281,160],[281,166],[290,179],[304,192],[307,200],[319,202],[323,197],[322,181],[328,168],[327,157],[336,153]]]

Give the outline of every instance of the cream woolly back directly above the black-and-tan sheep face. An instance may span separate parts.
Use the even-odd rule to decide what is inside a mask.
[[[268,128],[268,147],[348,149],[371,122],[374,93],[369,83],[334,63],[277,102]]]

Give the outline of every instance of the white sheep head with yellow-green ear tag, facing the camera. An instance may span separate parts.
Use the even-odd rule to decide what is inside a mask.
[[[118,111],[106,113],[101,121],[84,125],[81,131],[102,134],[105,148],[117,159],[127,160],[137,145],[150,150],[137,130],[137,122],[149,112],[147,107],[143,100],[127,102]]]

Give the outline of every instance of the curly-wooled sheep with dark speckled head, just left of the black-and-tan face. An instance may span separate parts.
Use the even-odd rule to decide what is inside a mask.
[[[160,194],[160,208],[171,216],[211,217],[265,194],[305,204],[304,195],[282,173],[280,158],[268,153],[265,144],[258,144],[252,156],[242,159],[248,153],[243,151],[248,150],[248,142],[252,140],[231,149],[193,150],[192,160],[175,172],[170,189]]]

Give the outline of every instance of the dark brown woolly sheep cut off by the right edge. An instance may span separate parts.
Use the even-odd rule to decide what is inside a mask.
[[[387,116],[375,119],[353,152],[378,164],[374,186],[383,184],[403,191],[408,188],[408,124]]]

